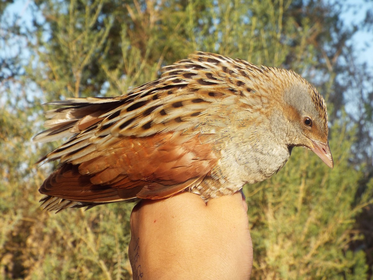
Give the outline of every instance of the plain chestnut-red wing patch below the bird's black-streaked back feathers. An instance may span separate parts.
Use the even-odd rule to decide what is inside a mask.
[[[158,199],[198,184],[217,163],[210,144],[180,133],[118,138],[95,155],[62,164],[40,192],[83,202]]]

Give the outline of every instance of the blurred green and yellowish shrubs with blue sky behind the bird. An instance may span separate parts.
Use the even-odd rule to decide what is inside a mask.
[[[349,3],[0,1],[0,279],[131,278],[133,205],[41,211],[38,187],[56,163],[34,163],[58,143],[31,138],[43,103],[123,94],[195,50],[294,69],[327,100],[334,169],[297,148],[244,187],[253,279],[372,279],[373,73],[354,35],[372,32],[373,6],[346,25],[341,14],[360,9]]]

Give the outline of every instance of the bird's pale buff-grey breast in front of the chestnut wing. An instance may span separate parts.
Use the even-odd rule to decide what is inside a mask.
[[[289,159],[288,147],[268,133],[236,135],[219,150],[219,162],[194,192],[213,198],[230,195],[247,183],[263,181],[279,171]]]

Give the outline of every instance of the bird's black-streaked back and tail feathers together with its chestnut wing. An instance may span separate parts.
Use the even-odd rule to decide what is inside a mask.
[[[63,209],[154,199],[199,184],[217,164],[216,143],[223,143],[228,116],[255,90],[233,86],[235,74],[224,69],[238,75],[246,67],[239,63],[196,53],[128,94],[49,103],[64,107],[47,112],[48,129],[34,140],[70,139],[40,160],[61,163],[40,188],[47,195],[43,205]]]

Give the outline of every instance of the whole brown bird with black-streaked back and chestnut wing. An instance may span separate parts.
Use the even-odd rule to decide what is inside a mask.
[[[59,160],[39,189],[45,210],[208,201],[271,177],[296,146],[333,168],[325,100],[294,71],[195,52],[161,73],[120,96],[47,103],[59,108],[33,140],[68,140],[38,161]]]

